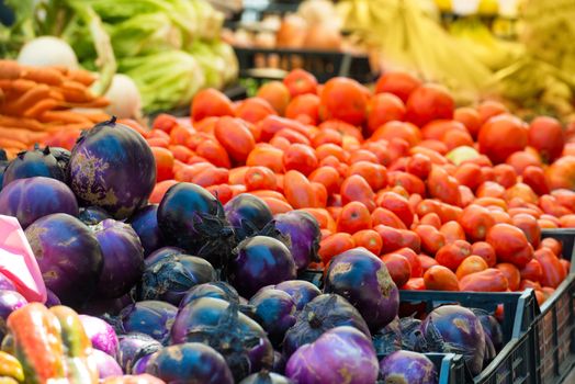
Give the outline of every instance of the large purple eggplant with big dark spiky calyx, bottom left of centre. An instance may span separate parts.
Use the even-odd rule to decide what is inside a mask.
[[[202,297],[184,306],[171,328],[172,343],[203,342],[222,353],[235,381],[269,369],[273,348],[258,323],[237,303]]]

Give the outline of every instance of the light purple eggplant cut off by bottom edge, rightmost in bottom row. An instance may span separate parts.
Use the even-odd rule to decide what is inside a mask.
[[[436,365],[422,353],[396,351],[380,362],[384,383],[437,384]]]

